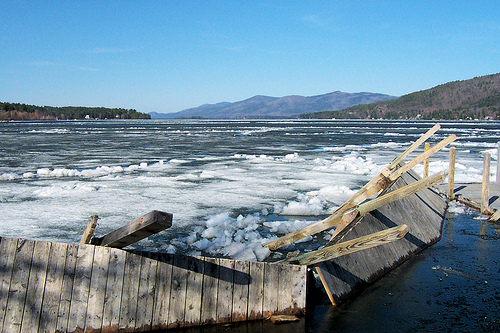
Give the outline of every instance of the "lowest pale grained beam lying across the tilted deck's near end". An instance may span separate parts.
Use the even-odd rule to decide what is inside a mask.
[[[327,246],[321,250],[312,251],[303,255],[286,259],[286,262],[297,265],[314,265],[323,261],[332,260],[346,254],[370,249],[402,239],[409,231],[406,224],[379,231],[350,241]]]

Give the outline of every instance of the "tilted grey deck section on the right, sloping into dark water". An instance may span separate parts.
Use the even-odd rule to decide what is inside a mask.
[[[382,194],[413,183],[417,179],[420,177],[410,171],[398,178]],[[446,208],[447,204],[442,196],[431,189],[425,189],[358,217],[354,221],[354,227],[341,241],[403,224],[406,224],[410,231],[396,242],[317,264],[316,270],[332,304],[338,304],[352,296],[410,256],[437,242],[441,238]],[[338,239],[326,246],[335,244],[336,241]]]

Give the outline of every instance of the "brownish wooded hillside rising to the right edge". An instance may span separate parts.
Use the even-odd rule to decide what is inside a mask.
[[[500,120],[500,73],[449,82],[394,100],[304,114],[301,118]]]

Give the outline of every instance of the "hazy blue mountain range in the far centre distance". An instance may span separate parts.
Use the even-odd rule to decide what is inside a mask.
[[[176,113],[150,113],[153,119],[207,118],[296,118],[308,112],[341,110],[347,107],[373,103],[397,97],[368,92],[345,93],[335,91],[318,96],[270,97],[257,95],[249,99],[229,103],[204,104]]]

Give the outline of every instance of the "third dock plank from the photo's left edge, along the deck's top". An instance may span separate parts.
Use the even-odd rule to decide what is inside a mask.
[[[49,242],[35,242],[21,332],[38,330],[50,254]]]

